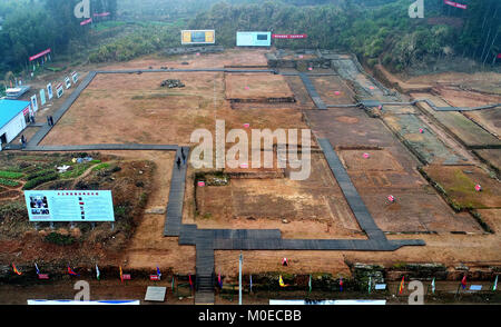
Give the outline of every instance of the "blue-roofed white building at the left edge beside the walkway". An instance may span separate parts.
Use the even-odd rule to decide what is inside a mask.
[[[30,101],[0,100],[0,141],[10,143],[29,122]]]

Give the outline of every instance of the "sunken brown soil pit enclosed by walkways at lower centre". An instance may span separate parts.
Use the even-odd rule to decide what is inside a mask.
[[[198,228],[277,228],[285,238],[356,237],[360,227],[327,162],[314,155],[312,164],[305,181],[232,179],[228,186],[197,187],[195,222]]]

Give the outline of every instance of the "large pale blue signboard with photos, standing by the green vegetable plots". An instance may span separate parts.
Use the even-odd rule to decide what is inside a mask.
[[[30,221],[115,221],[109,190],[27,190]]]

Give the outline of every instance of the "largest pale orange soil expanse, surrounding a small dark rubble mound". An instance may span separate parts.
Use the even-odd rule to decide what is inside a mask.
[[[186,88],[161,88],[165,79],[180,79]],[[305,127],[293,109],[233,110],[224,92],[223,73],[99,75],[42,143],[187,145],[196,129],[214,130],[216,119],[228,129]]]

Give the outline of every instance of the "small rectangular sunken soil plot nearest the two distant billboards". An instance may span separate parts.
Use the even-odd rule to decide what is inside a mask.
[[[289,99],[294,93],[283,76],[271,73],[226,73],[226,99],[267,102],[273,99]]]

